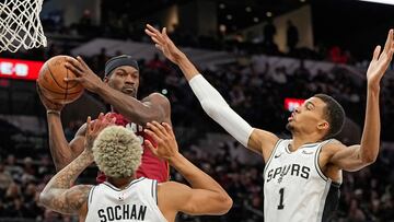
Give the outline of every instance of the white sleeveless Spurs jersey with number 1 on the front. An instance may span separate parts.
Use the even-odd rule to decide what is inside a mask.
[[[328,140],[294,152],[290,142],[277,142],[264,170],[265,221],[327,221],[339,199],[339,185],[318,166],[318,153]]]

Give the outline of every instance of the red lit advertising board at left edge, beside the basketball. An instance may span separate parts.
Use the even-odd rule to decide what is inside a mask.
[[[43,61],[0,58],[0,78],[36,80]]]

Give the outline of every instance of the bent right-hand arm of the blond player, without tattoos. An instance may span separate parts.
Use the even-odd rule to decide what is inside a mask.
[[[193,215],[227,213],[232,206],[232,199],[212,177],[178,152],[170,125],[153,121],[148,124],[146,132],[154,139],[158,148],[154,148],[149,140],[144,141],[146,145],[158,157],[167,160],[192,186],[174,182],[160,184],[159,208],[166,219],[173,221],[178,211]]]

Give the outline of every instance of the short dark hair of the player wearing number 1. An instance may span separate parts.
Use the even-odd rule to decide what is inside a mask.
[[[344,108],[335,98],[329,95],[316,94],[313,97],[317,97],[326,104],[324,108],[324,115],[329,124],[329,130],[324,139],[334,138],[344,128],[346,117]]]

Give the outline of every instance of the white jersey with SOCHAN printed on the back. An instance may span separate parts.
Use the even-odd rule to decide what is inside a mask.
[[[104,182],[88,197],[86,222],[166,221],[158,207],[158,182],[140,177],[119,189]]]

